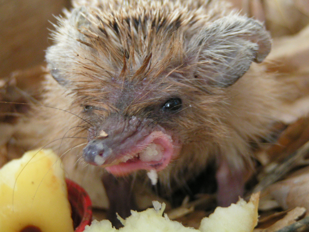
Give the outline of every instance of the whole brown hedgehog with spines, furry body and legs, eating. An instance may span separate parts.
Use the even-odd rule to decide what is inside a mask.
[[[110,206],[130,188],[111,187],[109,174],[157,173],[173,191],[210,162],[218,204],[243,195],[253,147],[270,140],[287,96],[263,62],[262,23],[221,0],[75,0],[54,26],[49,108],[32,106],[16,143],[54,148],[93,198],[104,183]]]

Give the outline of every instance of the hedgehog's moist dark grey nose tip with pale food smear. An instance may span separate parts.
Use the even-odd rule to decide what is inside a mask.
[[[103,165],[111,154],[112,149],[105,144],[103,139],[91,140],[83,149],[84,160],[93,165]]]

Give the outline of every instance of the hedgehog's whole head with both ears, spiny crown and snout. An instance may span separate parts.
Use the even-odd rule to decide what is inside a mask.
[[[185,144],[224,134],[224,89],[265,58],[269,35],[217,1],[113,3],[75,3],[46,59],[91,123],[86,161],[160,171]]]

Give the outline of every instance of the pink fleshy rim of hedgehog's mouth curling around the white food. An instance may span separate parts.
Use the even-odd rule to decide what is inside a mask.
[[[135,147],[132,149],[135,150],[138,148],[136,153],[140,153],[142,152],[142,150],[139,149],[140,147],[145,148],[150,144],[156,144],[159,145],[158,147],[162,148],[162,151],[159,151],[160,153],[162,153],[161,160],[146,162],[141,161],[138,157],[136,157],[126,162],[106,167],[105,169],[115,176],[128,174],[137,170],[163,170],[168,165],[172,155],[174,154],[174,147],[171,136],[164,134],[162,131],[154,131],[150,135],[148,135],[145,140],[136,144]]]

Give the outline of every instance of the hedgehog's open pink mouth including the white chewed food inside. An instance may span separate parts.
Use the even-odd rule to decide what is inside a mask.
[[[163,170],[175,155],[177,144],[170,135],[161,131],[150,133],[142,142],[134,145],[131,152],[121,155],[118,163],[105,167],[115,175],[129,174],[137,170]]]

